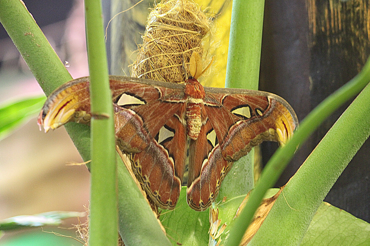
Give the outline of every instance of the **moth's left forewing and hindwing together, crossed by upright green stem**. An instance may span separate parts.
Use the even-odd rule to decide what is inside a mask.
[[[89,78],[72,80],[55,90],[38,123],[55,129],[69,121],[90,123]],[[129,153],[142,186],[162,208],[175,207],[186,157],[184,86],[110,76],[117,145]]]

